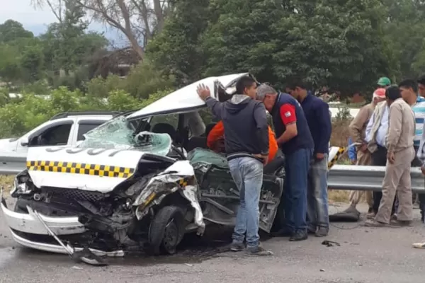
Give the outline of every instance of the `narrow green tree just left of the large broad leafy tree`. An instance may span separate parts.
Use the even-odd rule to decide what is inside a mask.
[[[209,3],[209,0],[177,1],[162,33],[147,45],[147,57],[156,67],[172,74],[177,87],[197,81],[202,75],[205,57],[200,35],[208,26],[205,18]]]

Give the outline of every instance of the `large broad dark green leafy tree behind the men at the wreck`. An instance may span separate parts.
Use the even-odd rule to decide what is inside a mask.
[[[392,73],[379,0],[283,3],[211,1],[205,75],[251,71],[278,86],[302,76],[312,86],[354,93]]]

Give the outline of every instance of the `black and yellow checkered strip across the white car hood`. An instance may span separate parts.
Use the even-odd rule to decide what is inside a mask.
[[[84,174],[113,178],[130,178],[135,171],[134,168],[120,166],[59,161],[27,161],[27,168],[30,171]]]

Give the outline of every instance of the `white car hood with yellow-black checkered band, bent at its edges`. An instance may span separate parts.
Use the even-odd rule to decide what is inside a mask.
[[[36,187],[110,192],[135,173],[144,154],[117,149],[31,148],[26,165]]]

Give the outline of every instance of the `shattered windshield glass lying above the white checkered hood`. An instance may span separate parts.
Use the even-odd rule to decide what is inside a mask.
[[[135,125],[123,117],[112,120],[84,134],[81,149],[137,150],[165,156],[171,149],[169,134],[140,132],[135,134]]]

